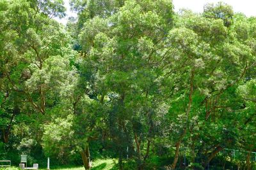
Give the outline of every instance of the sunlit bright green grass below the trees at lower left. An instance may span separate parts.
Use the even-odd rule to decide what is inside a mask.
[[[39,165],[40,167],[40,165]],[[51,168],[51,167],[50,167]],[[5,167],[0,168],[0,170],[18,170],[18,167]],[[83,166],[80,167],[52,167],[51,169],[54,170],[84,170]],[[118,167],[116,166],[116,160],[115,159],[99,159],[95,160],[92,163],[92,170],[116,170]],[[43,169],[42,169],[43,170]],[[44,169],[45,170],[45,169]]]

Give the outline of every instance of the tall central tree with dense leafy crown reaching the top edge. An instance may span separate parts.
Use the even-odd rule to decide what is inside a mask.
[[[132,138],[138,169],[145,166],[154,130],[153,103],[159,99],[150,97],[159,92],[154,80],[161,74],[157,62],[162,56],[157,52],[164,34],[172,27],[172,13],[170,1],[127,1],[111,17],[88,20],[81,32],[84,56],[95,71],[93,87],[99,88],[102,101],[106,96],[111,104],[109,131],[119,152],[120,169],[127,141]],[[142,132],[141,126],[147,131]],[[147,149],[142,153],[144,142]]]

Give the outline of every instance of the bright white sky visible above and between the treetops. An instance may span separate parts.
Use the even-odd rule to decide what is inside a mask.
[[[67,23],[68,17],[76,17],[76,13],[70,11],[68,4],[69,0],[65,1],[65,7],[67,8],[67,17],[58,19],[62,24]],[[220,0],[173,0],[174,10],[179,11],[181,8],[186,8],[197,13],[201,13],[204,10],[206,3],[218,3]],[[235,12],[244,13],[246,16],[256,16],[256,1],[255,0],[222,0],[224,3],[230,4]]]

